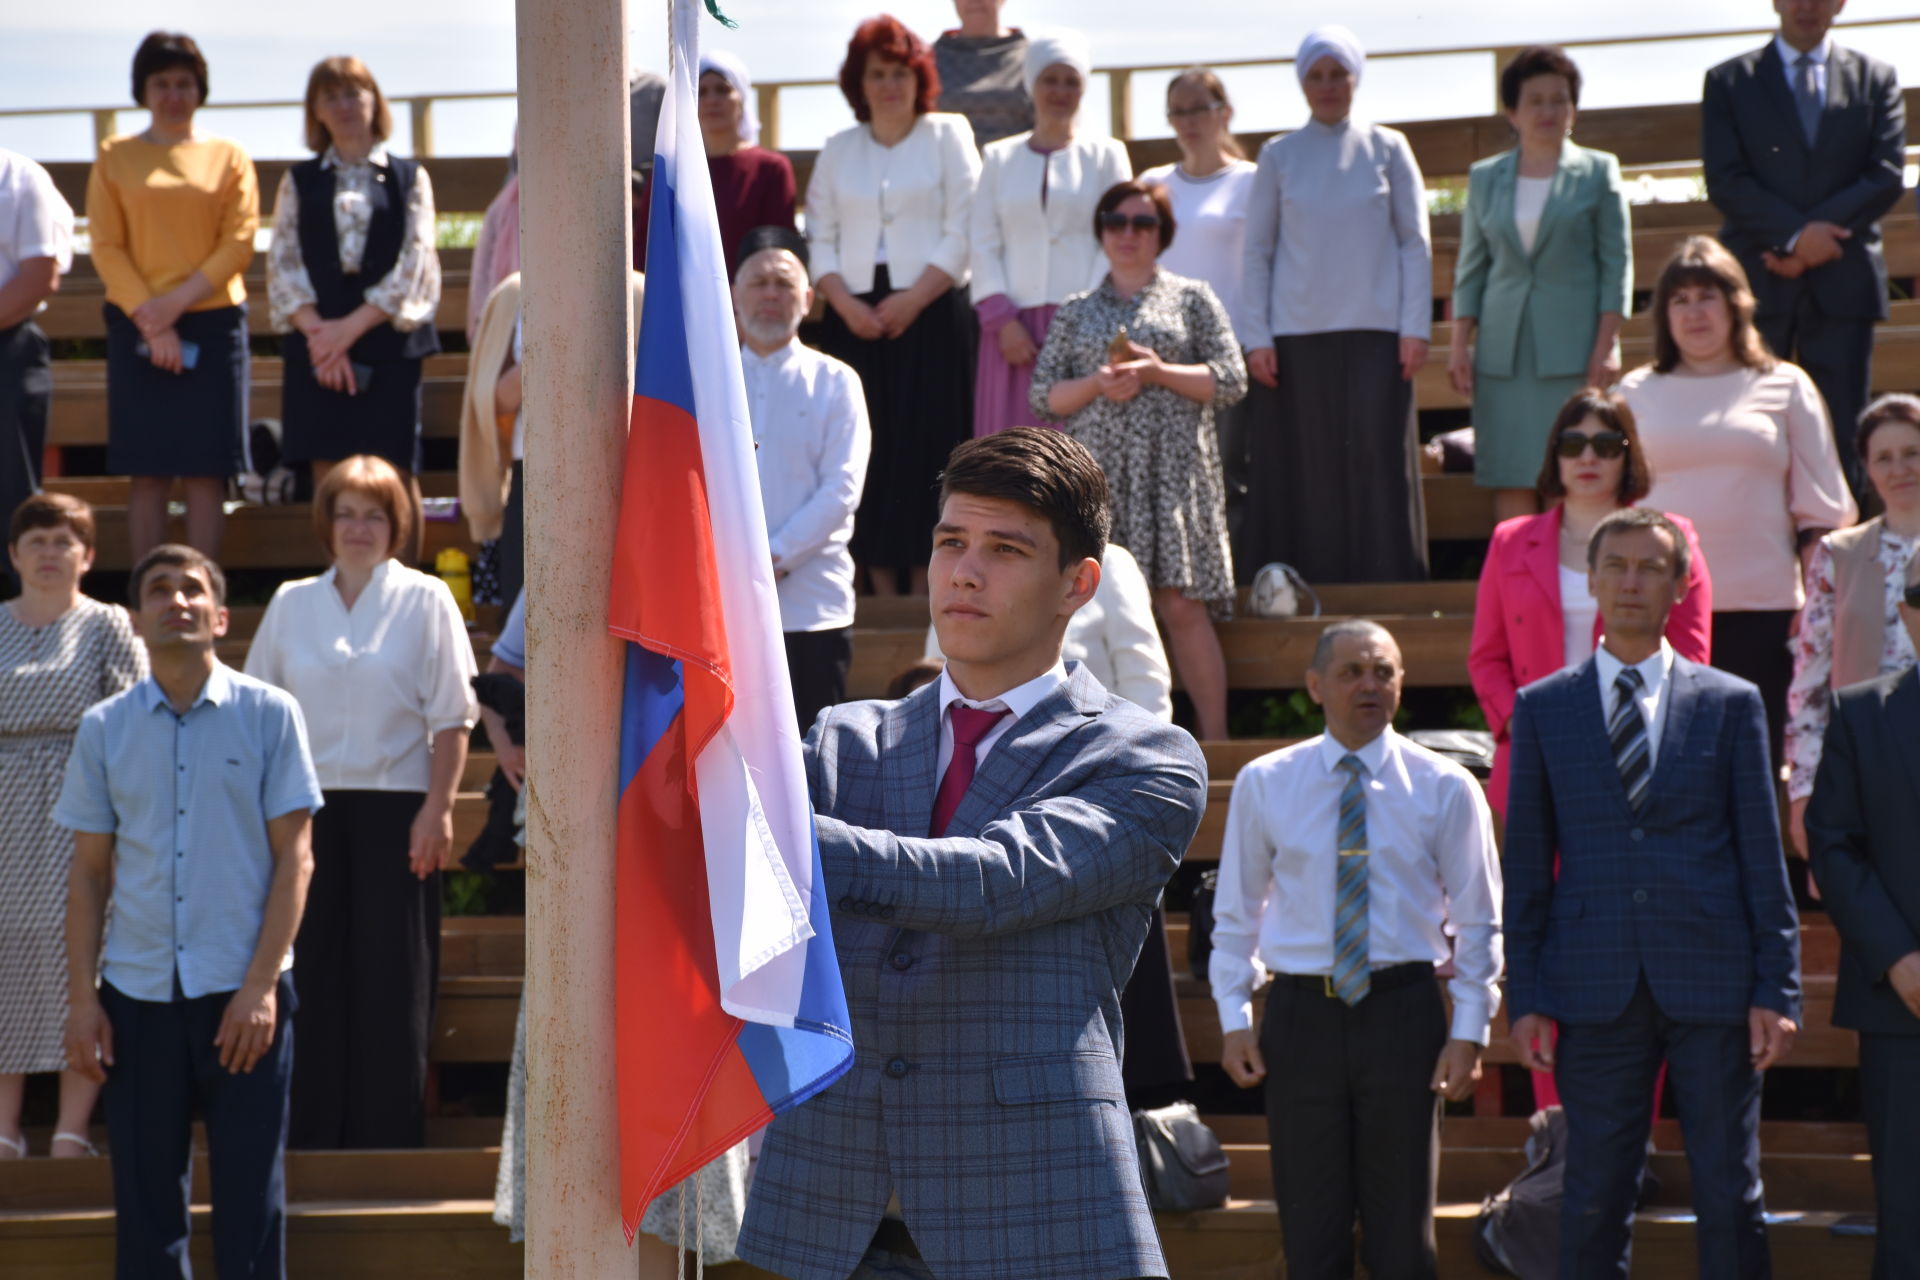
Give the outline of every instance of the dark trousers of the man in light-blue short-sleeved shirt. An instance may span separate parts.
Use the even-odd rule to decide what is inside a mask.
[[[253,1071],[221,1067],[213,1036],[232,992],[134,1000],[100,984],[113,1027],[108,1140],[113,1146],[113,1274],[190,1276],[186,1261],[194,1107],[207,1121],[213,1263],[221,1280],[286,1274],[286,1090],[294,1067],[294,984],[280,975],[273,1046]]]

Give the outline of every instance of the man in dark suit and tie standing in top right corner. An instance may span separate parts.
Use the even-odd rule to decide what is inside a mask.
[[[1887,319],[1880,219],[1901,196],[1907,107],[1893,67],[1828,29],[1847,0],[1774,0],[1780,35],[1707,73],[1701,161],[1720,240],[1747,269],[1755,322],[1805,368],[1845,443]],[[1859,464],[1847,459],[1855,491]]]

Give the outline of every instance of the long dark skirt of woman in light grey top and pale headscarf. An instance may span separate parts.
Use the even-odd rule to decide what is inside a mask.
[[[1248,432],[1244,572],[1284,560],[1311,583],[1425,581],[1419,432],[1400,338],[1296,334],[1273,349],[1277,415]]]

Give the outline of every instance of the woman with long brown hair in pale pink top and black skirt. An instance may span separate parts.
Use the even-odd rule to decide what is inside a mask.
[[[1688,236],[1653,286],[1653,363],[1620,395],[1659,476],[1647,505],[1684,510],[1713,560],[1713,664],[1759,685],[1778,768],[1803,560],[1857,509],[1826,401],[1766,349],[1740,261]]]

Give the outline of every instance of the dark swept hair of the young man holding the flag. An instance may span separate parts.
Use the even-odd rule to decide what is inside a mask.
[[[1106,472],[1066,432],[1016,426],[968,439],[947,455],[941,507],[954,493],[1004,497],[1046,516],[1060,539],[1060,568],[1106,555]]]

